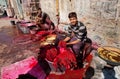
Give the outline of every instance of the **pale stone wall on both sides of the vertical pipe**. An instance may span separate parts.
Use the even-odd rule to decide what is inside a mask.
[[[67,15],[76,11],[78,17],[92,16],[105,19],[120,18],[120,0],[59,0],[59,13],[61,21],[67,21]],[[56,0],[41,0],[41,7],[51,17],[56,14]]]

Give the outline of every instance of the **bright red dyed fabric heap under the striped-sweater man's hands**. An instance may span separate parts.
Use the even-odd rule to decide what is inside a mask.
[[[54,59],[54,66],[56,68],[65,67],[66,69],[70,69],[71,67],[76,67],[76,58],[74,53],[66,48],[66,43],[61,41],[59,43],[59,55]]]

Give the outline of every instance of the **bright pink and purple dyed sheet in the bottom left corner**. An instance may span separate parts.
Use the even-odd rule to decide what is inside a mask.
[[[16,79],[20,74],[30,73],[38,79],[45,79],[45,73],[34,56],[16,62],[1,69],[1,79]]]

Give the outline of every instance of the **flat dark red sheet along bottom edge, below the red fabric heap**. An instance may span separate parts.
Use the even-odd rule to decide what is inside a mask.
[[[88,63],[84,68],[77,69],[77,70],[66,70],[64,74],[49,74],[47,79],[83,79],[83,76],[90,66],[91,60],[93,56],[90,54],[87,56],[85,61]]]

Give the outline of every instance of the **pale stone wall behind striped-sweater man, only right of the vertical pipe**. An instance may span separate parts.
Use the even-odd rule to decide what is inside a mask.
[[[118,10],[120,5],[119,0],[65,0],[64,2],[60,0],[59,3],[61,4],[61,21],[66,20],[62,16],[68,15],[70,11],[76,11],[78,17],[91,16],[105,19],[120,18],[120,11]]]

